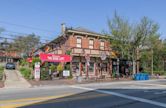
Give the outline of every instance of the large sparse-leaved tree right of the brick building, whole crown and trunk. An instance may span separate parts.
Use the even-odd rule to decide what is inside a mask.
[[[158,24],[147,17],[143,17],[139,23],[133,24],[115,12],[113,19],[108,19],[108,27],[111,47],[118,50],[120,57],[133,60],[133,74],[139,71],[140,50],[145,47],[145,40],[157,35]],[[150,48],[150,46],[147,46]],[[137,63],[137,64],[136,64]]]

